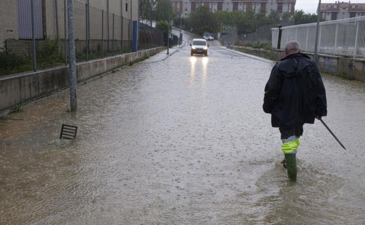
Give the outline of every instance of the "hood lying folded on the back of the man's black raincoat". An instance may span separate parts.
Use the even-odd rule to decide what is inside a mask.
[[[308,60],[309,59],[309,60]],[[293,77],[300,74],[300,71],[310,65],[311,58],[303,53],[295,53],[281,59],[279,70],[285,77]]]

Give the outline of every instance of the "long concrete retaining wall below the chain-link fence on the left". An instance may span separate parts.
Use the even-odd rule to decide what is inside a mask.
[[[158,47],[135,53],[77,63],[77,82],[84,81],[146,56],[154,55],[164,49],[165,47]],[[24,104],[37,98],[59,92],[68,86],[68,66],[0,77],[0,114],[17,104]]]

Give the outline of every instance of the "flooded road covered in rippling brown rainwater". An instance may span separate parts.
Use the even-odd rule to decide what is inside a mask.
[[[77,113],[66,91],[1,120],[0,224],[365,224],[365,84],[323,75],[347,151],[304,125],[293,184],[262,112],[272,63],[210,44],[78,86]]]

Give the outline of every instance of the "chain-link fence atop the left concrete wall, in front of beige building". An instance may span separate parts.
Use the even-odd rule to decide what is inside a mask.
[[[130,5],[88,2],[73,1],[77,62],[163,46],[163,31],[132,26]],[[0,75],[67,65],[67,0],[3,0],[0,13]]]

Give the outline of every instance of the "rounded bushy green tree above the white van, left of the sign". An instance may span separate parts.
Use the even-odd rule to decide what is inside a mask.
[[[202,5],[189,14],[187,22],[188,26],[193,28],[193,32],[199,35],[203,35],[204,32],[218,31],[217,16]]]

